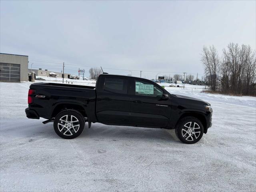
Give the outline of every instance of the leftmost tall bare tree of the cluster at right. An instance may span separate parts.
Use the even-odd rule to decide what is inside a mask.
[[[220,59],[218,56],[218,51],[213,45],[209,48],[204,46],[201,61],[204,64],[204,71],[208,77],[210,88],[211,90],[216,91]]]

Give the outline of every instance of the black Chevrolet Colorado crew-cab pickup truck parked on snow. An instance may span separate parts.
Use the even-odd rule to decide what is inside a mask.
[[[85,122],[175,129],[187,144],[198,142],[212,125],[212,108],[196,98],[170,94],[147,79],[101,74],[96,87],[34,83],[28,91],[28,118],[54,122],[58,136],[72,139]]]

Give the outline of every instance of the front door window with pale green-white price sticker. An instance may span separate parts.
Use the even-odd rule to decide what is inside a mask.
[[[135,95],[162,97],[163,91],[149,82],[135,80]]]

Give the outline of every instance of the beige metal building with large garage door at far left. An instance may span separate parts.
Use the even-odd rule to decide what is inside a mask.
[[[0,81],[28,81],[28,56],[0,53]]]

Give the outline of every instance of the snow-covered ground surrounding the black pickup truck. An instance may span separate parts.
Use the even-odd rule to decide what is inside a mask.
[[[2,192],[256,190],[255,97],[160,84],[170,93],[212,104],[213,125],[200,142],[183,144],[173,130],[99,123],[90,129],[86,124],[78,138],[64,140],[52,123],[26,118],[30,84],[0,82]]]

